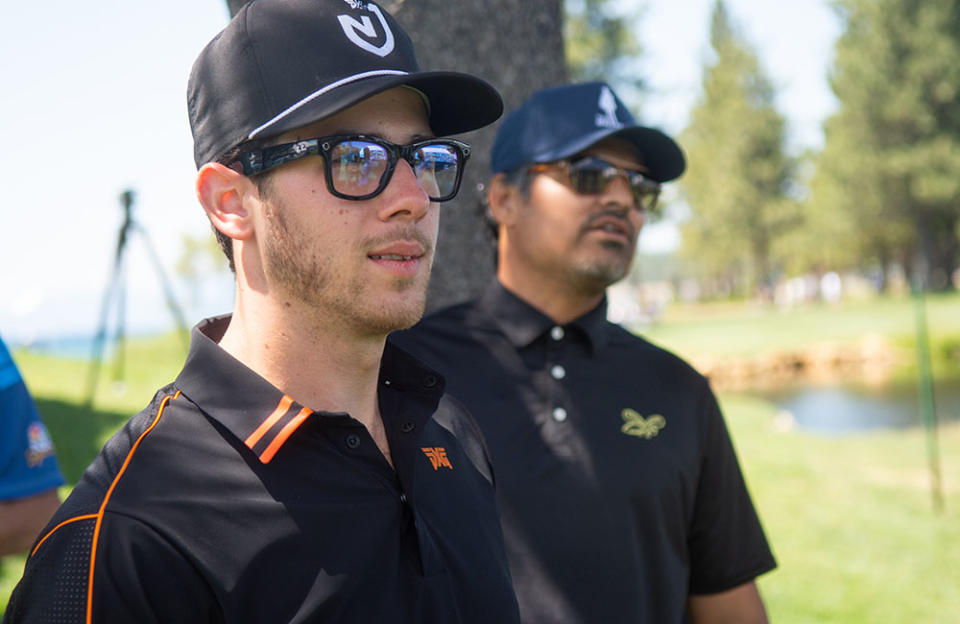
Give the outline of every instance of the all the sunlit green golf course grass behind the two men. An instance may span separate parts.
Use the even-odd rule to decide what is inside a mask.
[[[960,296],[931,297],[927,315],[935,373],[957,375]],[[909,299],[789,312],[717,304],[674,306],[643,333],[686,357],[737,356],[866,334],[912,346],[913,321]],[[173,336],[132,342],[125,390],[114,391],[112,369],[105,367],[90,411],[82,407],[86,363],[15,352],[69,482],[176,376],[184,355]],[[960,621],[960,423],[939,431],[944,510],[936,513],[922,429],[843,436],[782,430],[771,403],[749,394],[720,398],[779,562],[760,579],[772,621]],[[3,561],[0,609],[23,561]]]

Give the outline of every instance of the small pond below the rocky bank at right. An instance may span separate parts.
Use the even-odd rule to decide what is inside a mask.
[[[853,433],[923,425],[916,383],[798,385],[758,394],[808,431]],[[960,380],[934,383],[934,406],[939,422],[960,420]]]

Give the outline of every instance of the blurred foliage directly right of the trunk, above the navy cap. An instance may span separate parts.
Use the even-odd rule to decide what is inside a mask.
[[[640,15],[620,5],[610,0],[564,2],[567,68],[573,82],[606,80],[625,100],[635,101],[644,86],[635,69],[643,52],[633,30]]]

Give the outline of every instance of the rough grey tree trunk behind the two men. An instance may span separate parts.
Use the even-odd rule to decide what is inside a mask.
[[[245,0],[227,0],[234,15]],[[506,110],[567,81],[562,0],[384,0],[410,34],[424,70],[468,72],[496,87]],[[490,177],[497,125],[471,132],[460,194],[443,204],[428,310],[477,294],[494,275],[495,246],[480,189]]]

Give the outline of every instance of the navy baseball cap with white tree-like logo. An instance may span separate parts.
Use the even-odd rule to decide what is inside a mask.
[[[636,147],[649,177],[657,182],[683,173],[680,146],[656,128],[637,125],[605,82],[587,82],[537,91],[504,118],[493,142],[494,173],[573,156],[609,138]]]

